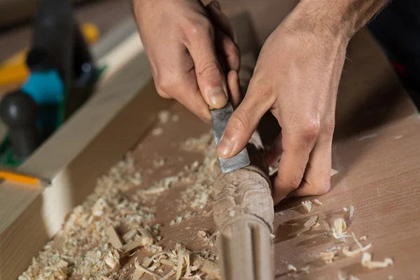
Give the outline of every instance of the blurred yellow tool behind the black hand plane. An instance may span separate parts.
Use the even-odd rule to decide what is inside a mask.
[[[99,29],[91,23],[83,23],[80,25],[83,35],[87,43],[94,43],[99,38]],[[28,48],[24,48],[19,52],[6,59],[0,64],[0,86],[17,85],[23,83],[29,74],[29,69],[25,62]]]

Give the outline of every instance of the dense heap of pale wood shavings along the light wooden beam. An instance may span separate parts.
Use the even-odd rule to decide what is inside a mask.
[[[128,230],[145,228],[155,235],[159,230],[153,225],[153,209],[128,200],[123,193],[140,184],[141,173],[135,171],[134,159],[128,154],[125,160],[111,168],[109,174],[97,181],[94,193],[73,209],[62,230],[43,247],[19,279],[66,279],[69,275],[106,275],[120,279],[126,271],[117,275],[116,267],[109,265],[108,257],[113,255],[113,246],[108,243],[106,229],[121,226]],[[139,232],[125,241],[137,237],[140,237]]]

